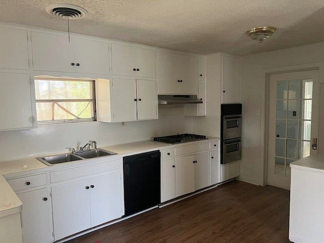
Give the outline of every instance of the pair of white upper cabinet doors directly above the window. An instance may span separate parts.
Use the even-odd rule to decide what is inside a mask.
[[[34,70],[109,74],[109,44],[31,31]]]

